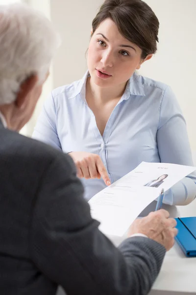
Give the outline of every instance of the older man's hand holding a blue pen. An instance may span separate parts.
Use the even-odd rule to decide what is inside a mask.
[[[169,218],[168,211],[161,209],[150,212],[146,217],[136,219],[129,228],[128,236],[133,234],[144,234],[147,237],[162,244],[166,250],[170,250],[177,235],[176,221]]]

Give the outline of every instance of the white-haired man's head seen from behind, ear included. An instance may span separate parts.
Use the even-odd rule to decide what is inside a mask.
[[[31,118],[60,44],[49,20],[25,4],[0,5],[0,112],[8,128]]]

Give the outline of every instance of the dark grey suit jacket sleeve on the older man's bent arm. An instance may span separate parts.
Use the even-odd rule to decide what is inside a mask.
[[[47,167],[35,200],[31,259],[69,295],[146,295],[165,248],[131,237],[118,248],[98,230],[72,159],[63,153]]]

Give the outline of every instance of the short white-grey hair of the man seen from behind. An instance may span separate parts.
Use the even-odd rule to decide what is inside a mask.
[[[0,105],[12,103],[21,83],[43,81],[60,36],[51,22],[27,4],[0,5]]]

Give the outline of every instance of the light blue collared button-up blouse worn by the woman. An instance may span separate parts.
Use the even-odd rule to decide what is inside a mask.
[[[98,154],[111,182],[142,161],[193,166],[186,123],[169,86],[134,73],[101,136],[85,99],[87,76],[51,92],[33,138],[64,152]],[[102,179],[82,182],[87,200],[105,188]],[[193,173],[166,193],[164,203],[188,204],[195,196]]]

